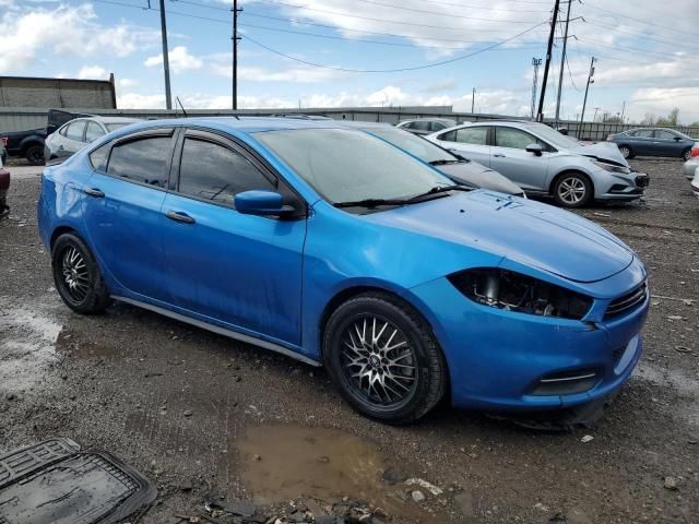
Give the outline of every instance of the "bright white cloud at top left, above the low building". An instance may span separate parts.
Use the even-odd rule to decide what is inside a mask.
[[[60,56],[123,58],[159,35],[121,23],[104,26],[95,20],[90,4],[29,12],[9,9],[0,21],[0,72],[22,70],[45,50]]]

